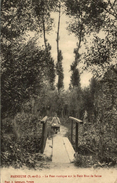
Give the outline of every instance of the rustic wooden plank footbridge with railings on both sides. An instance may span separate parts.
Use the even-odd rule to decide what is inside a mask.
[[[51,138],[47,138],[47,119],[47,116],[45,116],[41,120],[43,125],[41,153],[49,157],[54,163],[74,162],[74,154],[78,150],[78,125],[82,123],[82,121],[69,117],[71,122],[71,139],[69,140],[67,137],[63,136],[61,131],[54,134]]]

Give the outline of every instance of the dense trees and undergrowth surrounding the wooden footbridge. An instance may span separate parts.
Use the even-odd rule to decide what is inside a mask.
[[[40,120],[45,115],[51,118],[54,111],[62,120],[71,115],[87,123],[83,127],[85,137],[81,135],[79,151],[87,147],[100,162],[115,165],[116,0],[2,0],[1,5],[2,165],[35,167],[37,161],[43,159]],[[52,58],[47,40],[53,28],[52,12],[58,13],[56,60]],[[64,58],[59,48],[61,13],[70,17],[68,30],[78,38],[67,91],[64,91],[63,82]],[[31,33],[34,36],[30,36]],[[87,38],[90,36],[89,45]],[[83,53],[82,46],[86,48]],[[90,86],[84,89],[80,83],[80,64],[82,71],[90,69],[93,73]],[[89,123],[91,128],[85,126]]]

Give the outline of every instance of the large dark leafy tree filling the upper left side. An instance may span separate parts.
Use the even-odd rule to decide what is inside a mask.
[[[46,46],[46,52],[37,46],[43,27],[36,22],[31,1],[4,0],[1,15],[1,105],[2,117],[5,117],[7,112],[15,114],[19,111],[30,95],[39,92],[43,82],[49,80],[53,85],[55,73],[51,46]],[[26,32],[29,30],[40,34],[28,40]]]

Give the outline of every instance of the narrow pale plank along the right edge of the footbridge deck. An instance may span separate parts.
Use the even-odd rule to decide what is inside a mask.
[[[75,151],[69,141],[69,139],[67,137],[63,137],[63,141],[64,141],[64,144],[65,144],[65,148],[66,148],[66,151],[68,153],[68,156],[69,156],[69,159],[70,159],[70,162],[73,162],[74,161],[74,154],[75,154]]]

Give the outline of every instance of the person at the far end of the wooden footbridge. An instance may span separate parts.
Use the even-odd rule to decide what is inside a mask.
[[[61,124],[60,119],[58,118],[57,113],[55,112],[54,117],[52,118],[52,126],[51,126],[52,130],[55,133],[60,131],[60,124]]]

